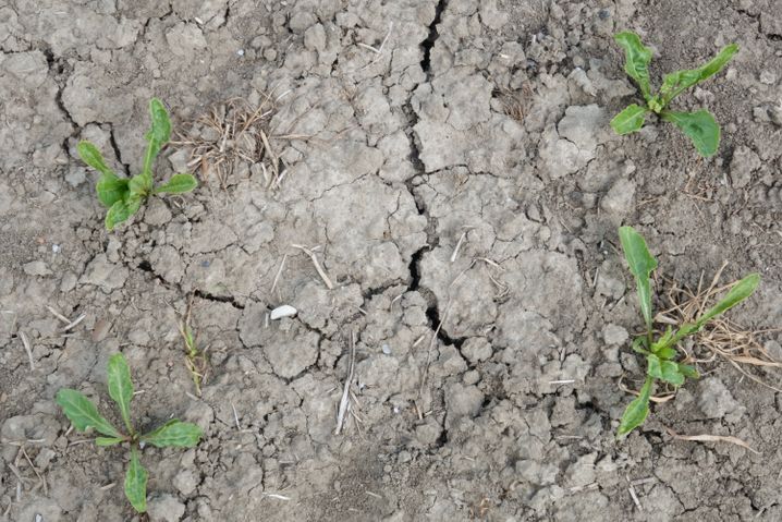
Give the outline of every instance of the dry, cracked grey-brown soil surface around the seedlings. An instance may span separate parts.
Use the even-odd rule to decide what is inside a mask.
[[[677,101],[722,123],[712,159],[656,122],[612,135],[636,100],[625,28],[657,82],[741,45]],[[111,411],[122,351],[142,425],[205,429],[144,450],[151,520],[782,520],[782,396],[724,361],[613,437],[618,381],[643,373],[619,224],[658,255],[660,296],[730,260],[725,279],[763,276],[733,319],[782,325],[779,0],[7,0],[0,50],[0,519],[138,520],[126,452],[53,402],[72,387]],[[74,147],[136,171],[151,96],[212,143],[196,119],[270,97],[276,158],[221,182],[198,163],[195,193],[107,233]],[[158,175],[192,151],[170,145]],[[293,244],[319,246],[333,289]],[[200,398],[176,326],[191,295]],[[282,304],[298,314],[268,320]],[[85,317],[63,332],[47,306]]]

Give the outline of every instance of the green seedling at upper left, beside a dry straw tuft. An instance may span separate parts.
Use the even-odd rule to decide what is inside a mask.
[[[106,228],[113,228],[136,214],[142,204],[152,194],[181,194],[190,192],[198,185],[192,174],[174,174],[161,185],[155,185],[152,179],[152,163],[158,154],[171,137],[171,120],[166,106],[157,98],[149,101],[151,128],[144,136],[149,145],[144,157],[144,167],[139,174],[133,178],[120,178],[103,160],[98,148],[90,142],[80,142],[76,149],[82,161],[100,172],[96,185],[98,199],[109,211],[106,214]]]

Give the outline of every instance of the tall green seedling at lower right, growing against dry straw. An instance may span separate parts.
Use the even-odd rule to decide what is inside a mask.
[[[698,372],[694,366],[679,360],[676,345],[687,336],[697,333],[707,323],[733,306],[737,305],[755,292],[760,276],[750,274],[741,281],[735,282],[731,290],[720,302],[709,308],[694,323],[685,323],[675,331],[669,326],[664,333],[655,337],[653,315],[651,309],[651,283],[649,277],[657,268],[657,259],[649,254],[644,238],[633,227],[619,229],[619,239],[622,243],[624,257],[630,266],[630,271],[635,278],[638,289],[638,301],[640,314],[646,325],[646,333],[633,340],[633,350],[646,357],[646,380],[640,388],[638,397],[635,398],[625,409],[622,420],[619,423],[616,437],[627,435],[636,427],[644,424],[649,414],[649,398],[656,381],[662,381],[679,388],[685,379],[697,379]]]

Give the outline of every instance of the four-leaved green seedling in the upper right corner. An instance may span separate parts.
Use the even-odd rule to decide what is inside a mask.
[[[645,101],[643,106],[637,104],[627,106],[611,120],[611,126],[616,134],[628,134],[640,130],[646,116],[653,112],[681,129],[693,141],[701,156],[708,158],[717,153],[720,145],[720,125],[711,112],[706,109],[680,112],[668,110],[668,106],[684,90],[720,72],[738,51],[738,46],[735,44],[725,46],[711,61],[698,69],[665,74],[662,86],[657,94],[652,94],[649,81],[651,49],[645,47],[638,35],[630,31],[614,35],[614,39],[625,52],[624,71],[638,84]]]

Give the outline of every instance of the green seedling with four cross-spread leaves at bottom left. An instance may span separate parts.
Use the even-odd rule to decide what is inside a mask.
[[[95,428],[103,435],[97,437],[97,446],[114,446],[129,442],[131,447],[131,462],[125,474],[125,497],[131,506],[139,512],[147,510],[147,477],[148,473],[142,466],[138,458],[139,449],[146,445],[157,448],[176,447],[192,448],[198,444],[201,437],[201,429],[195,424],[183,423],[172,418],[157,429],[146,434],[139,434],[131,423],[131,399],[133,399],[133,383],[127,362],[121,353],[109,359],[107,368],[109,396],[117,402],[120,415],[125,424],[125,433],[115,428],[109,421],[103,418],[96,405],[81,391],[63,388],[57,392],[57,403],[62,408],[71,424],[78,432]]]

